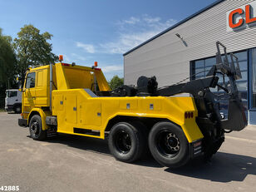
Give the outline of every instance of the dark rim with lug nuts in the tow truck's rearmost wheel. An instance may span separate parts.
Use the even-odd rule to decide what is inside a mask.
[[[156,136],[156,145],[161,155],[174,157],[180,152],[180,140],[170,130],[162,130]]]

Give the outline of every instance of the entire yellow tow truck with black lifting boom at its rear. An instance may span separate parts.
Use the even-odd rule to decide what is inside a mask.
[[[228,57],[225,47],[224,54]],[[76,66],[60,57],[59,63],[27,71],[18,124],[28,126],[34,140],[55,133],[102,140],[108,135],[117,160],[134,162],[149,149],[161,165],[179,167],[198,155],[209,158],[219,150],[225,132],[247,125],[235,84],[241,77],[239,63],[235,67],[234,61],[227,62],[219,51],[205,78],[158,88],[155,76],[140,76],[137,86],[111,91],[97,63]],[[229,88],[218,84],[218,71],[229,77]],[[229,96],[229,119],[220,116],[210,91],[215,86]],[[180,93],[191,96],[175,96]]]

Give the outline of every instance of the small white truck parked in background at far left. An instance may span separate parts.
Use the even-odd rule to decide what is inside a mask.
[[[22,112],[22,92],[17,89],[6,91],[5,110],[14,111],[15,113]]]

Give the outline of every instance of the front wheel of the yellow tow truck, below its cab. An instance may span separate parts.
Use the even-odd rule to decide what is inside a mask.
[[[47,137],[47,131],[42,130],[41,116],[34,115],[29,121],[29,132],[33,140],[44,140]]]

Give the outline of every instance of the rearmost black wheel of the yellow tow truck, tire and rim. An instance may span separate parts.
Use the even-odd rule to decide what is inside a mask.
[[[159,122],[152,127],[149,147],[160,165],[178,168],[190,160],[190,147],[183,130],[170,122]]]

